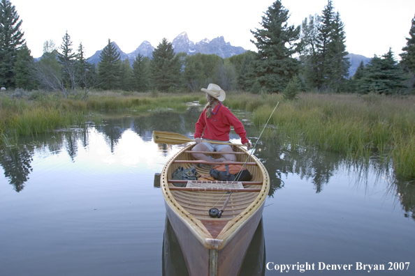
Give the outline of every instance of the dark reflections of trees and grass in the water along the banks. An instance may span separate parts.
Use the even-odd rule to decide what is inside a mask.
[[[194,125],[198,120],[200,111],[189,109],[186,114],[175,113],[149,113],[142,116],[120,116],[106,115],[102,124],[85,125],[84,128],[76,128],[67,131],[56,131],[36,137],[21,137],[20,144],[13,148],[0,148],[0,165],[4,169],[4,174],[14,190],[20,192],[24,188],[24,183],[29,179],[32,167],[31,162],[35,151],[44,151],[47,155],[54,155],[61,151],[66,151],[75,162],[79,148],[87,148],[89,132],[97,131],[103,135],[106,144],[114,153],[115,146],[119,144],[124,132],[127,130],[136,132],[143,141],[152,143],[153,130],[163,130],[177,132],[187,137],[192,137]],[[247,125],[247,132],[251,137],[259,135],[258,128]],[[231,139],[238,139],[238,135],[231,134]],[[252,143],[256,138],[251,138]],[[134,145],[131,145],[134,146]],[[172,146],[159,144],[159,151],[167,156],[172,150]],[[277,190],[284,187],[282,176],[296,174],[301,179],[310,181],[316,193],[324,191],[324,186],[330,183],[330,178],[336,171],[351,171],[354,178],[358,179],[359,185],[373,185],[368,182],[370,176],[377,176],[377,181],[386,178],[388,189],[386,192],[393,196],[402,205],[406,217],[415,220],[415,182],[394,176],[393,169],[381,167],[376,160],[369,162],[351,162],[344,155],[313,146],[282,145],[279,139],[265,139],[256,145],[254,155],[268,169],[271,180],[269,196],[273,196]]]

